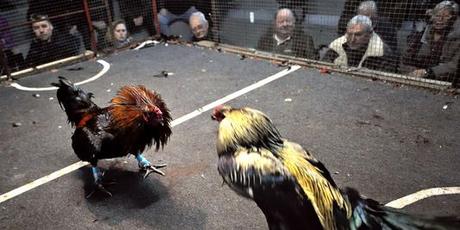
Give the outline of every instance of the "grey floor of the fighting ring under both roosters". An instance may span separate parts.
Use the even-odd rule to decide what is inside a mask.
[[[213,50],[158,45],[104,60],[111,68],[82,86],[107,105],[126,84],[144,84],[162,94],[174,118],[282,70],[269,62]],[[79,71],[69,70],[81,67]],[[59,75],[73,81],[101,69],[87,61],[20,79],[46,87]],[[155,78],[162,70],[168,78]],[[72,128],[55,91],[0,87],[0,194],[78,161]],[[288,102],[285,99],[290,98]],[[443,106],[449,103],[447,109]],[[320,159],[339,186],[387,203],[416,191],[460,186],[460,107],[456,97],[340,74],[300,69],[228,104],[266,112],[282,135]],[[13,122],[22,126],[13,127]],[[61,127],[61,128],[59,128]],[[112,198],[85,199],[91,176],[84,167],[0,203],[2,229],[266,229],[256,205],[237,196],[216,170],[217,124],[206,112],[173,128],[153,161],[168,163],[166,176],[141,180],[133,158],[103,161],[117,181]],[[410,213],[460,213],[460,195],[429,198],[403,209]]]

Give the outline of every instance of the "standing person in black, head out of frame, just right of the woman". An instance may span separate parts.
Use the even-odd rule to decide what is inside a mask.
[[[126,22],[128,31],[133,34],[146,31],[149,36],[155,35],[151,2],[150,0],[119,1],[121,16]]]

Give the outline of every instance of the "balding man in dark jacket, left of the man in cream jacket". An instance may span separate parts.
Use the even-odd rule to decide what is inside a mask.
[[[295,26],[295,17],[290,9],[279,9],[273,26],[260,38],[257,49],[268,52],[317,59],[313,38]]]

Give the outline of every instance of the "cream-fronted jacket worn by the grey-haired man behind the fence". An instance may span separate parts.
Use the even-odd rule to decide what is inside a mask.
[[[368,68],[372,70],[380,70],[385,72],[395,72],[396,62],[391,49],[386,45],[382,39],[373,33],[369,44],[363,55],[359,60],[349,59],[346,49],[347,39],[345,36],[337,38],[329,45],[329,50],[326,52],[322,61],[332,62],[341,67],[357,67]],[[357,63],[357,65],[350,65],[350,63]]]

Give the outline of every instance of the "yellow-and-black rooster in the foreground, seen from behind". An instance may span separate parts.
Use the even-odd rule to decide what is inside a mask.
[[[453,217],[418,218],[339,189],[320,161],[282,139],[258,110],[218,106],[211,117],[219,122],[220,175],[257,203],[270,229],[460,229]]]

